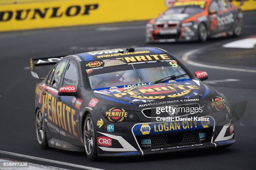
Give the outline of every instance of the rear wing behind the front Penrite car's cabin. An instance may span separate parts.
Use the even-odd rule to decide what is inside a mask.
[[[43,66],[43,65],[54,65],[56,64],[59,60],[61,60],[63,57],[66,57],[67,55],[62,55],[62,56],[57,56],[57,57],[45,57],[45,58],[30,58],[30,70],[31,70],[31,75],[39,80],[43,80],[43,78],[39,78],[35,67],[37,66]]]

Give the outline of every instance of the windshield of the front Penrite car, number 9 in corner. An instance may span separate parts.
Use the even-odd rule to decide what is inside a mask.
[[[92,89],[108,89],[111,87],[149,83],[171,75],[177,76],[185,73],[187,72],[174,60],[136,64],[125,63],[124,65],[87,70]],[[187,75],[177,78],[177,80],[188,78],[189,76]]]

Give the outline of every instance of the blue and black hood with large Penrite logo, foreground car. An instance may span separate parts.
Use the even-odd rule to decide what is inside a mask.
[[[95,90],[95,97],[105,100],[109,105],[127,107],[146,107],[156,105],[177,105],[177,103],[204,103],[217,95],[217,92],[200,80],[186,79],[109,90]],[[154,104],[153,104],[154,105]]]

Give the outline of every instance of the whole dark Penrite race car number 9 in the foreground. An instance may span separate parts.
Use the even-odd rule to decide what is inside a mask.
[[[51,64],[39,78],[35,67]],[[31,74],[42,79],[35,87],[34,116],[43,149],[85,151],[95,160],[235,142],[228,100],[202,82],[207,73],[192,74],[159,48],[31,59]]]

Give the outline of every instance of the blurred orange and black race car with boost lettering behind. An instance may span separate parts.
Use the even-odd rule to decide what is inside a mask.
[[[177,0],[146,26],[146,42],[200,40],[241,34],[243,14],[228,0]]]

